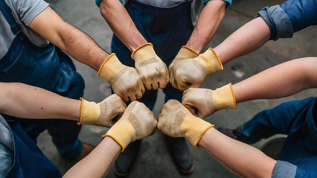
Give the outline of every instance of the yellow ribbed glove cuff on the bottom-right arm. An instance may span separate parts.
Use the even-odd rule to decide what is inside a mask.
[[[183,111],[177,113],[175,117],[175,122],[179,122],[180,127],[173,128],[179,129],[174,130],[174,132],[181,133],[182,131],[184,131],[185,138],[189,141],[191,145],[193,145],[197,149],[200,148],[200,146],[198,146],[197,143],[202,139],[205,132],[209,128],[215,127],[215,125],[210,124],[209,122],[206,122],[201,118],[195,117],[193,115],[186,115],[186,113]]]

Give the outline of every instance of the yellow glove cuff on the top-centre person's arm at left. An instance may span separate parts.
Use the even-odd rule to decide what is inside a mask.
[[[139,63],[138,65],[140,67],[157,62],[153,44],[150,42],[142,44],[140,47],[134,50],[131,57],[137,63]]]

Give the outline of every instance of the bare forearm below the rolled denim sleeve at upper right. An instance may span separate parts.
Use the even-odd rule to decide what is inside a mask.
[[[259,49],[269,40],[270,30],[262,17],[258,17],[233,32],[214,48],[222,64]]]

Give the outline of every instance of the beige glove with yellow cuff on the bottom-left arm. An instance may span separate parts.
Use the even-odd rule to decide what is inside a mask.
[[[156,126],[154,114],[143,103],[134,101],[102,137],[111,137],[122,147],[123,152],[131,142],[154,134]]]

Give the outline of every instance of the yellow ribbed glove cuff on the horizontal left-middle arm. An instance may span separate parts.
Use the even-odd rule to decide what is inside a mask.
[[[83,98],[80,100],[82,101],[81,117],[77,124],[95,125],[101,115],[100,105],[96,104],[95,102],[86,101]]]

